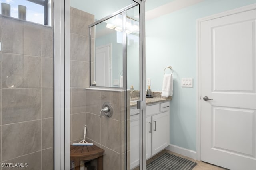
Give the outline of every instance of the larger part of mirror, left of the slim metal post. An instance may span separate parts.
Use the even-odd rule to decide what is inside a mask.
[[[122,87],[120,84],[123,69],[122,30],[122,14],[90,28],[91,86]]]

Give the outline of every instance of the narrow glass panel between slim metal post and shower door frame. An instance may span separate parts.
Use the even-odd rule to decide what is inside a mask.
[[[127,169],[139,169],[140,166],[140,17],[139,6],[126,10],[126,65],[127,87],[130,103],[128,103],[128,160]],[[130,112],[130,114],[129,114]]]

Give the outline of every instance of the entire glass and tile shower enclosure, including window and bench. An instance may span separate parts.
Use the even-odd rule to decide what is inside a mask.
[[[1,2],[0,169],[77,168],[70,147],[85,125],[105,170],[145,169],[144,2]]]

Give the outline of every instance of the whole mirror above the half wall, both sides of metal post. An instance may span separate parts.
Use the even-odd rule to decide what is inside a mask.
[[[90,86],[123,88],[126,62],[139,58],[139,21],[135,17],[138,7],[131,9],[90,26]]]

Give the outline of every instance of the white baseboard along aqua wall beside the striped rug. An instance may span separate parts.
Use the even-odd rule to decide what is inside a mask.
[[[194,150],[189,150],[172,144],[170,144],[165,149],[170,150],[171,152],[175,152],[177,154],[181,154],[183,156],[187,156],[192,159],[197,159],[197,154]]]

